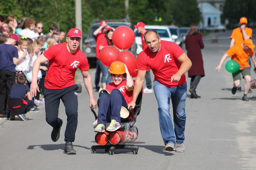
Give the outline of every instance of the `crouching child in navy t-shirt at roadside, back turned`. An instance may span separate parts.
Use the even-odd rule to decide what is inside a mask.
[[[27,82],[27,78],[24,74],[19,74],[17,76],[17,84],[14,84],[11,88],[11,94],[10,94],[10,99],[8,100],[8,107],[10,108],[11,111],[11,116],[10,116],[10,120],[14,120],[15,119],[15,115],[12,114],[12,111],[14,111],[15,109],[15,105],[19,105],[19,104],[25,104],[25,110],[24,112],[20,112],[18,114],[19,118],[22,120],[27,120],[25,114],[30,111],[30,109],[33,107],[33,100],[32,97],[30,95],[30,89],[29,86],[26,85]],[[20,102],[17,102],[19,100],[15,100],[14,98],[18,98],[21,99]],[[27,99],[25,99],[27,98]],[[25,100],[26,102],[24,102],[23,100]],[[11,107],[14,106],[14,107]]]

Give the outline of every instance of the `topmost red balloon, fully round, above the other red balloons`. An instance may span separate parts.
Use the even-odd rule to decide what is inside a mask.
[[[112,35],[114,45],[121,50],[126,50],[132,47],[134,40],[134,32],[130,27],[124,25],[117,27]]]

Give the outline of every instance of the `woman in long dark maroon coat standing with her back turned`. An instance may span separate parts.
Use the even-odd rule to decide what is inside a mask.
[[[196,94],[196,87],[200,79],[204,76],[203,57],[201,52],[201,49],[204,48],[204,43],[198,24],[191,24],[185,39],[185,46],[188,51],[188,58],[192,62],[192,67],[188,71],[188,77],[191,78],[189,92],[191,92],[191,98],[197,99],[200,98],[200,96]]]

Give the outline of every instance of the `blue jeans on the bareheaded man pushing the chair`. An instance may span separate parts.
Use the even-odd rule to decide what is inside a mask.
[[[185,140],[185,102],[187,82],[177,87],[166,87],[154,80],[154,92],[158,103],[159,125],[165,145],[169,142],[182,143]],[[170,99],[173,106],[173,122],[170,115]]]

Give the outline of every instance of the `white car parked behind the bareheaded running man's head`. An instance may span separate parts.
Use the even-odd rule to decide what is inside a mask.
[[[172,34],[170,32],[169,26],[163,26],[163,25],[146,25],[146,30],[154,29],[158,32],[159,36],[161,37],[161,40],[165,41],[173,41]],[[137,44],[136,53],[139,54],[142,51],[142,42],[140,33],[138,33],[137,28],[134,29],[135,33],[135,43]]]

